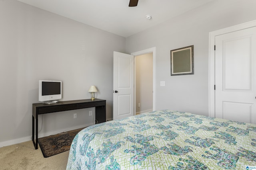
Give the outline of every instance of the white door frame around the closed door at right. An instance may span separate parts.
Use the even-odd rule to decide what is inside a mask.
[[[234,25],[217,31],[209,33],[209,84],[208,84],[208,95],[209,95],[209,116],[215,117],[215,37],[218,35],[247,29],[250,27],[256,27],[256,20],[249,21],[246,23]]]

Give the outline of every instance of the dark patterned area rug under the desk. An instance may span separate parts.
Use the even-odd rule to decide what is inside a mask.
[[[38,144],[45,158],[65,152],[70,149],[70,145],[78,132],[84,128],[59,133],[48,137],[38,138]]]

